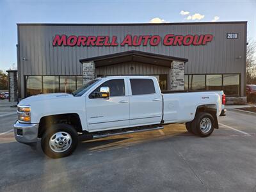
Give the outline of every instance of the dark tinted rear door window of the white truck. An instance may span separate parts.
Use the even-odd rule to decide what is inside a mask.
[[[132,95],[156,93],[152,79],[130,79]]]

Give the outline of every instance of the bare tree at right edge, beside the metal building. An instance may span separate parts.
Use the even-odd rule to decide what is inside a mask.
[[[256,41],[249,40],[246,49],[246,83],[256,84]]]

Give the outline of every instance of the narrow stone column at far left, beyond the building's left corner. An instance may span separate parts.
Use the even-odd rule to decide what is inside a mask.
[[[15,102],[18,100],[17,70],[6,70],[6,72],[8,72],[9,101]]]

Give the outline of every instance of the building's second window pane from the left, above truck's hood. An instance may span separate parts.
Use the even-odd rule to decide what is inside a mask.
[[[60,92],[59,76],[43,76],[43,93]]]

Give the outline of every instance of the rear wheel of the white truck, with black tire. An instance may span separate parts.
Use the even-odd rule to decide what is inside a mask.
[[[211,126],[207,127],[207,129],[202,130],[200,128],[200,123],[201,121],[204,120],[204,122],[208,122],[209,121],[209,125],[211,122]],[[204,124],[204,122],[202,122],[202,124]],[[206,123],[207,124],[207,123]],[[192,131],[194,132],[194,134],[205,138],[207,136],[210,136],[212,134],[212,131],[214,129],[214,118],[211,115],[211,113],[207,113],[207,112],[198,112],[196,113],[195,119],[193,120],[192,124]]]

